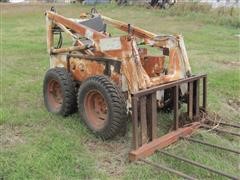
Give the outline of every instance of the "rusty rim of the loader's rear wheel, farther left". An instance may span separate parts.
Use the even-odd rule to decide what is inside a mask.
[[[53,111],[58,111],[63,103],[63,95],[60,83],[50,80],[47,86],[48,103]]]

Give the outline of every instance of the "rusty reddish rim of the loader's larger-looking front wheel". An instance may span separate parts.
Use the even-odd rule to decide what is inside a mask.
[[[104,127],[107,121],[108,108],[101,92],[97,90],[89,91],[84,98],[84,109],[87,119],[94,129]]]

